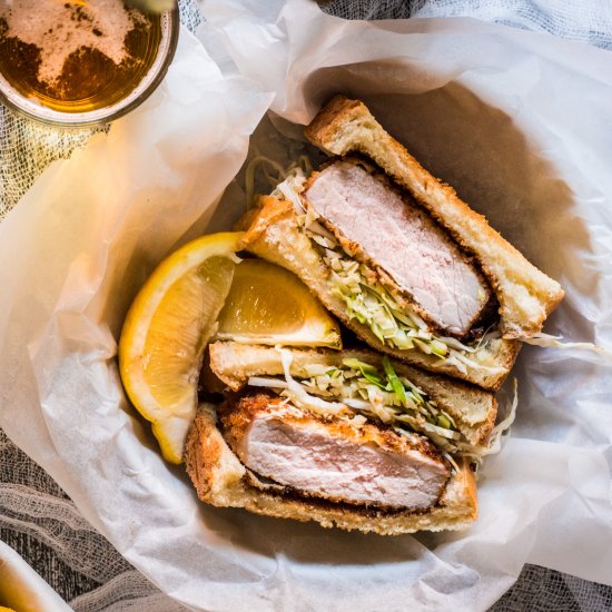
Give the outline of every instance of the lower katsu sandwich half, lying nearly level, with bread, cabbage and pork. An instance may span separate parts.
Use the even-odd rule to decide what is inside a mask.
[[[477,516],[474,465],[499,448],[494,394],[368,349],[216,342],[228,392],[189,430],[187,472],[220,507],[394,535]]]

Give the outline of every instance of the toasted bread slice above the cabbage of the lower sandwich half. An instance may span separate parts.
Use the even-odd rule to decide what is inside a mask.
[[[309,377],[306,371],[308,365],[342,367],[343,359],[347,358],[383,369],[383,357],[373,351],[285,351],[292,355],[289,373],[297,378]],[[470,444],[486,444],[497,415],[497,402],[493,393],[398,362],[392,362],[392,365],[398,376],[423,389],[453,417],[457,431]],[[209,367],[231,391],[240,391],[250,376],[278,376],[284,372],[280,353],[276,348],[231,342],[217,342],[209,346]]]

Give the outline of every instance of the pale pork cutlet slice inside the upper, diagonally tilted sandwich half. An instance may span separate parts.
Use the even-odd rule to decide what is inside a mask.
[[[338,160],[310,180],[308,206],[351,255],[384,270],[416,310],[463,337],[480,318],[491,289],[451,236],[407,195],[356,160]]]

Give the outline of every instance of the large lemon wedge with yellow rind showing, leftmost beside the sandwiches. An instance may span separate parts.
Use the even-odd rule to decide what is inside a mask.
[[[204,349],[229,292],[241,236],[213,234],[175,251],[142,286],[124,323],[124,386],[171,463],[182,461]]]

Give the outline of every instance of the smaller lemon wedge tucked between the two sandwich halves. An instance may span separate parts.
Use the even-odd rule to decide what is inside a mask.
[[[236,266],[215,339],[342,348],[338,324],[306,285],[263,259]]]

